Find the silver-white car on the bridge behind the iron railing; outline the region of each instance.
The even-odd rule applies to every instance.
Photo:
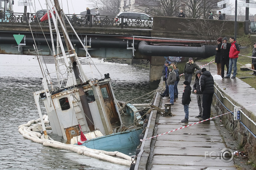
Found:
[[[141,12],[119,12],[115,17],[114,25],[121,25],[124,16],[124,26],[152,27],[153,17]]]

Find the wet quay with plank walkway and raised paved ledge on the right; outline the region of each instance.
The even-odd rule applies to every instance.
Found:
[[[197,64],[201,66],[206,63]],[[209,70],[209,66],[206,68]],[[216,65],[211,64],[210,72],[212,75],[217,73]],[[193,93],[191,94],[192,102],[189,104],[189,122],[180,122],[185,116],[183,105],[181,104],[184,89],[183,82],[184,77],[181,77],[178,84],[179,98],[176,99],[176,102],[171,107],[173,117],[163,117],[161,112],[152,111],[144,139],[199,122],[199,119],[195,118],[199,110],[196,95]],[[214,82],[215,94],[212,107],[216,109],[218,115],[230,112],[228,110],[233,111],[234,107],[231,103],[242,108],[255,104],[256,90],[240,79],[222,79]],[[164,87],[162,83],[161,81],[159,89]],[[193,86],[193,80],[191,86]],[[242,93],[247,89],[249,91],[248,94]],[[168,99],[167,97],[162,98],[157,94],[154,105],[164,109],[164,104],[169,103]],[[244,115],[241,115],[241,122],[243,123],[234,121],[231,113],[221,117],[227,130],[238,140],[238,143],[244,146],[243,151],[248,152],[248,157],[253,161],[256,157],[256,138],[253,135],[256,128],[254,120],[256,113],[254,110],[256,110],[255,105],[242,109],[243,113],[252,119],[249,120]],[[247,128],[242,124],[247,124]],[[230,162],[222,160],[222,149],[226,148],[225,141],[214,121],[206,121],[143,141],[140,148],[141,151],[137,156],[135,169],[236,169],[233,160]],[[210,154],[212,156],[209,156]]]

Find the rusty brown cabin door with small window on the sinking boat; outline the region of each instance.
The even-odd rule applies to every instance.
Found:
[[[109,84],[108,83],[103,84],[100,86],[100,88],[101,88],[101,93],[104,99],[107,115],[111,123],[112,129],[120,127],[121,122],[119,119],[119,115],[116,111],[115,102],[114,102]]]

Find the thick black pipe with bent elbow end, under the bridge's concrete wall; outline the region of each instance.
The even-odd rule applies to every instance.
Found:
[[[152,46],[146,41],[139,43],[139,52],[147,56],[197,57],[207,58],[215,55],[216,46],[181,47]]]

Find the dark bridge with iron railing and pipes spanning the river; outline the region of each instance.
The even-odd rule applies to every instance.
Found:
[[[51,55],[49,26],[47,21],[36,21],[35,14],[13,13],[0,15],[0,53],[35,55],[33,45],[36,44],[42,55]],[[4,16],[4,17],[3,17]],[[215,55],[215,46],[202,46],[201,32],[221,32],[221,36],[234,35],[234,21],[202,20],[178,17],[154,16],[149,19],[131,19],[121,16],[67,15],[65,22],[71,22],[80,39],[88,47],[92,57],[144,59],[150,61],[150,82],[159,83],[159,75],[164,56],[201,57]],[[86,18],[90,18],[87,21]],[[129,22],[128,22],[129,21]],[[154,22],[153,22],[154,21]],[[200,29],[200,25],[207,25]],[[199,31],[192,30],[194,26]],[[222,28],[220,31],[219,29]],[[70,26],[67,26],[71,41],[78,56],[86,56],[86,52],[75,40]],[[35,42],[33,40],[33,32]],[[44,34],[43,34],[44,32]],[[238,22],[237,36],[245,32],[245,22]],[[18,46],[13,35],[25,35]],[[211,37],[212,41],[217,38]],[[63,40],[64,41],[64,40]]]

